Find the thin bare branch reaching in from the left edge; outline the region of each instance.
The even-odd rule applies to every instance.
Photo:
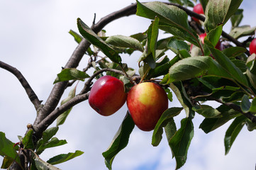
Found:
[[[36,96],[35,92],[31,88],[31,86],[28,84],[28,81],[23,77],[20,71],[16,69],[15,67],[10,66],[9,64],[6,64],[4,62],[0,61],[0,67],[2,69],[6,69],[7,71],[11,72],[15,77],[17,77],[18,81],[21,82],[21,85],[26,91],[26,94],[28,94],[28,98],[35,106],[35,110],[38,110],[41,101],[39,101],[38,96]]]

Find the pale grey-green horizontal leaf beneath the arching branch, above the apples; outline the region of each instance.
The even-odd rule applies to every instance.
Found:
[[[113,35],[106,39],[105,41],[109,45],[114,45],[116,47],[126,47],[126,48],[133,48],[135,50],[139,50],[143,52],[144,48],[143,45],[135,38],[131,38],[124,35]]]

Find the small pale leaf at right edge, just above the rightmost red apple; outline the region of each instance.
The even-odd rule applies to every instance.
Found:
[[[250,27],[250,26],[240,26],[233,28],[229,35],[232,36],[235,39],[238,39],[243,36],[247,35],[255,35],[256,27]]]

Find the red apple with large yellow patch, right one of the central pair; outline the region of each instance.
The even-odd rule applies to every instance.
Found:
[[[126,103],[135,125],[140,130],[150,131],[167,110],[168,97],[160,85],[143,82],[130,89]]]

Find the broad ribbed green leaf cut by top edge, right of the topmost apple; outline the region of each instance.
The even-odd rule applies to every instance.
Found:
[[[207,32],[228,21],[243,0],[209,0],[205,10],[204,26]]]

